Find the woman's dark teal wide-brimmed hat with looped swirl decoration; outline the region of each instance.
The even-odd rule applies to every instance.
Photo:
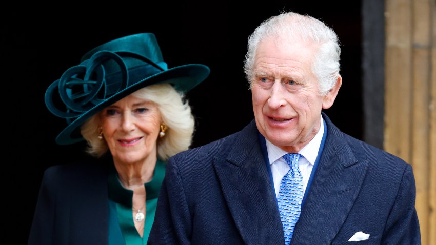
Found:
[[[138,89],[170,83],[186,93],[209,72],[201,64],[168,69],[153,33],[125,36],[98,46],[46,91],[48,110],[68,123],[56,142],[68,145],[83,140],[80,126],[88,118]]]

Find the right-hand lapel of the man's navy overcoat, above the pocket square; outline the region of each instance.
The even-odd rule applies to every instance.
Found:
[[[292,244],[330,244],[342,227],[368,169],[327,116],[327,139]]]

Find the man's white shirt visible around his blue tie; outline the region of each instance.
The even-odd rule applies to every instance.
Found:
[[[303,147],[298,153],[302,155],[298,161],[300,172],[303,176],[303,195],[309,182],[310,173],[312,172],[313,165],[315,164],[318,151],[320,149],[321,140],[324,134],[324,119],[321,117],[321,127],[315,137]],[[279,196],[280,182],[283,176],[290,170],[289,165],[282,157],[288,152],[273,145],[268,139],[265,138],[266,148],[268,152],[269,164],[271,167],[272,179],[274,181],[275,196]],[[295,152],[289,152],[295,153]]]

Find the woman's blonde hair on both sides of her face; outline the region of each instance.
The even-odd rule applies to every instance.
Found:
[[[167,161],[169,157],[189,149],[194,133],[194,117],[184,94],[168,83],[150,85],[132,93],[135,97],[152,101],[168,127],[165,136],[157,139],[157,156]],[[100,157],[108,151],[105,140],[98,139],[100,119],[98,113],[81,127],[82,136],[88,142],[87,152]]]

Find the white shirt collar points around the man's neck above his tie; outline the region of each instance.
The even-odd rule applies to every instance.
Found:
[[[315,134],[310,142],[303,147],[298,153],[301,154],[304,158],[309,161],[311,165],[315,163],[316,157],[318,156],[318,151],[320,149],[321,140],[323,139],[324,134],[324,119],[321,116],[321,126],[320,130]],[[268,151],[268,160],[269,164],[272,164],[274,161],[287,154],[288,152],[282,150],[278,146],[272,144],[268,139],[265,138],[266,148]]]

